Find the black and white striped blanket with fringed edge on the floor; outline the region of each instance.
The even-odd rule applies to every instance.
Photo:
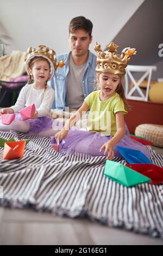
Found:
[[[30,139],[21,159],[2,160],[1,148],[1,205],[72,218],[87,216],[112,227],[163,237],[161,184],[127,188],[104,176],[105,157],[57,153],[46,137],[16,132],[0,132],[0,136]],[[163,157],[152,153],[154,164],[163,167]],[[120,158],[114,161],[125,163]]]

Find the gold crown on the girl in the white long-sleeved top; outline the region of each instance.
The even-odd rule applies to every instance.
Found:
[[[32,60],[35,57],[43,57],[48,60],[51,66],[51,71],[48,78],[48,80],[51,80],[55,74],[55,70],[57,68],[62,68],[62,66],[64,66],[65,64],[63,61],[60,61],[57,63],[57,60],[54,58],[54,55],[56,55],[56,53],[53,49],[45,45],[39,45],[38,47],[39,49],[36,50],[35,48],[32,48],[32,46],[30,46],[27,50],[28,57],[25,59],[25,67],[26,67],[27,74],[29,75],[30,60]]]

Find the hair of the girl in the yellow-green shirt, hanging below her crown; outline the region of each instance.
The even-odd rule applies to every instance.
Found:
[[[97,73],[97,76],[96,76],[96,81],[97,81],[97,83],[96,83],[95,89],[97,89],[97,90],[100,90],[100,89],[101,89],[100,84],[99,84],[99,75],[100,75],[100,74],[103,74],[103,73],[102,73],[102,72],[98,72],[98,73]],[[118,75],[118,76],[119,76],[119,75]],[[121,99],[122,99],[122,101],[123,101],[123,103],[124,103],[124,108],[125,108],[125,110],[126,110],[126,111],[129,111],[130,106],[128,105],[127,100],[126,100],[126,96],[125,96],[125,94],[124,94],[124,89],[123,89],[123,86],[122,86],[122,76],[119,76],[119,77],[120,77],[120,83],[118,83],[118,86],[117,86],[117,88],[116,88],[116,93],[118,93],[118,94],[120,95],[120,97],[121,97]]]

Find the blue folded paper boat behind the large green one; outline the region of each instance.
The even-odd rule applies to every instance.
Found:
[[[120,154],[127,160],[128,163],[153,163],[145,154],[136,149],[124,147],[116,147]]]

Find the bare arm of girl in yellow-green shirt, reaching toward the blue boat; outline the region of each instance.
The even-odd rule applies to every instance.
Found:
[[[99,150],[101,152],[103,149],[105,149],[104,155],[108,154],[106,159],[109,159],[109,160],[113,159],[114,148],[115,148],[116,144],[123,138],[123,136],[125,134],[123,112],[119,111],[115,115],[116,115],[117,131],[116,131],[114,137],[112,137],[112,139],[110,139],[110,141],[103,144],[101,149]]]

